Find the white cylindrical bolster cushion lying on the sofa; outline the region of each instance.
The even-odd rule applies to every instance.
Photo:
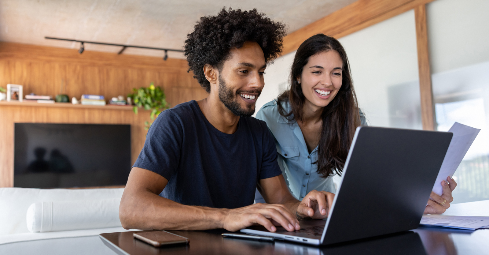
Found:
[[[52,232],[122,227],[119,198],[37,202],[27,209],[30,232]]]

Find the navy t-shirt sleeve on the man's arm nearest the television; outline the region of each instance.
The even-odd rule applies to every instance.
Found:
[[[150,170],[170,180],[177,171],[182,140],[180,120],[170,110],[163,111],[148,130],[133,167]]]

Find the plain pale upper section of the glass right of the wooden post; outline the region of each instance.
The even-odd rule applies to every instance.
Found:
[[[489,61],[489,0],[426,5],[432,73]]]

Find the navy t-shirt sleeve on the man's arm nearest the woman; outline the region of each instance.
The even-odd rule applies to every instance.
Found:
[[[263,122],[263,160],[260,171],[260,180],[275,177],[282,174],[277,163],[277,147],[275,139],[267,128],[267,124]]]

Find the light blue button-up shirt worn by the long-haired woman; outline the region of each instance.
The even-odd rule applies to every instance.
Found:
[[[290,112],[289,103],[283,103],[286,113]],[[309,153],[306,140],[296,121],[290,123],[287,118],[278,112],[277,101],[265,104],[256,114],[256,118],[267,122],[275,138],[278,152],[278,164],[282,175],[289,186],[292,195],[302,200],[311,190],[324,190],[336,193],[336,187],[331,176],[322,178],[317,173],[317,146]],[[365,116],[360,112],[362,125],[366,125]],[[261,194],[256,191],[256,203],[265,203]]]

